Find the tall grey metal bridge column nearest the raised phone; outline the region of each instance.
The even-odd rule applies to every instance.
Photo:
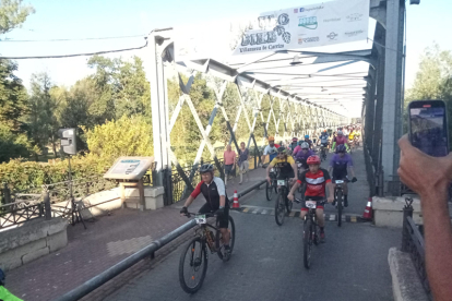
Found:
[[[386,1],[386,34],[384,49],[384,105],[382,119],[382,166],[384,180],[391,181],[399,167],[397,140],[402,131],[402,63],[404,36],[403,0]]]

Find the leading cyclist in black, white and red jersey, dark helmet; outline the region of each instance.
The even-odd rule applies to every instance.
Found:
[[[229,224],[229,202],[226,196],[225,183],[222,179],[214,176],[214,167],[211,164],[204,164],[200,168],[202,181],[198,183],[194,191],[187,198],[180,210],[181,215],[187,215],[188,206],[197,198],[200,193],[204,196],[206,203],[199,209],[199,214],[216,213],[218,216],[219,231],[223,236],[223,243],[225,245],[226,260],[229,258],[229,231],[227,230]]]

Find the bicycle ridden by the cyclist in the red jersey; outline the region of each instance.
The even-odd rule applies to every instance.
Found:
[[[301,203],[301,200],[295,198],[294,202]],[[312,200],[307,200],[305,202],[306,207],[308,207],[308,214],[305,216],[304,221],[304,231],[302,231],[302,261],[305,268],[309,269],[311,267],[311,251],[312,244],[319,245],[320,243],[320,227],[317,224],[316,208],[317,203],[320,205],[325,204],[325,201],[317,202]]]

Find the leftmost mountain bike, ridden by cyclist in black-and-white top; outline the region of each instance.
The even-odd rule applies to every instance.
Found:
[[[216,218],[215,227],[207,224],[209,217],[217,217],[215,214],[194,214],[194,213],[187,213],[187,217],[191,217],[194,215],[194,219],[199,225],[198,229],[195,230],[195,237],[187,244],[186,249],[183,250],[182,254],[180,255],[179,261],[179,281],[182,289],[188,293],[197,292],[205,278],[205,274],[207,272],[207,248],[211,251],[211,254],[217,253],[218,257],[223,261],[228,261],[224,255],[224,245],[223,245],[223,237],[222,232],[219,231],[218,226],[218,218]],[[215,230],[215,234],[209,228]],[[236,239],[236,227],[234,224],[234,219],[229,216],[229,227],[228,231],[230,234],[229,239],[229,252],[233,253],[234,243]],[[186,266],[186,258],[188,257],[189,263],[189,281],[186,280],[185,277],[185,266]],[[201,273],[200,276],[198,272]],[[191,286],[191,282],[194,285]]]

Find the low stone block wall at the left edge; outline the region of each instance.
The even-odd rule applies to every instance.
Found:
[[[67,227],[68,221],[62,218],[38,218],[0,232],[0,267],[13,269],[64,248]]]

